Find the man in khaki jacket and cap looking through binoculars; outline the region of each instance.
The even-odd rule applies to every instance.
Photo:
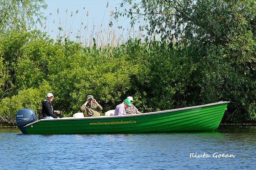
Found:
[[[84,113],[84,117],[100,116],[100,111],[102,107],[94,99],[92,95],[86,97],[86,102],[80,107],[81,111]]]

